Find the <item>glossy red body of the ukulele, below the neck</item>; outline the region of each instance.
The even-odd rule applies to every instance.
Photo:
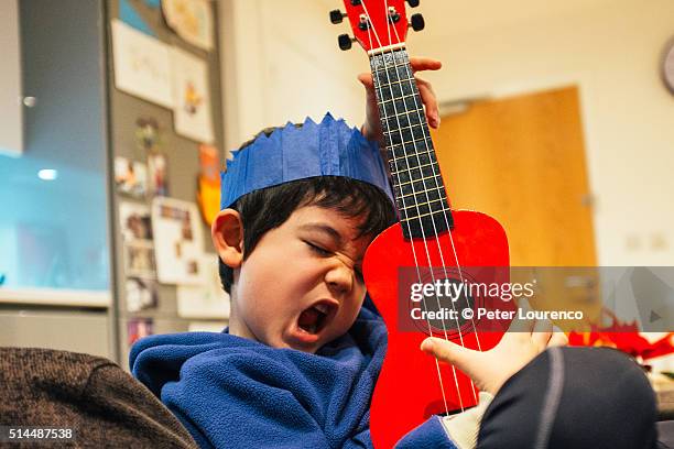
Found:
[[[508,240],[501,225],[475,211],[453,210],[452,216],[453,230],[441,233],[437,239],[413,239],[411,244],[403,237],[401,223],[396,223],[378,236],[366,253],[363,275],[367,289],[389,332],[387,355],[370,408],[370,431],[376,448],[392,448],[406,432],[434,414],[447,409],[460,412],[461,406],[476,405],[477,391],[464,373],[446,363],[436,363],[432,355],[420,350],[421,342],[428,336],[426,321],[422,321],[424,325],[418,329],[410,329],[403,324],[412,307],[423,309],[424,304],[407,300],[409,292],[400,287],[401,270],[406,271],[409,277],[410,273],[415,272],[415,266],[433,266],[434,270],[427,270],[426,274],[435,273],[437,280],[443,272],[446,273],[443,261],[445,267],[456,272],[458,259],[463,273],[471,282],[502,284],[510,280]],[[492,269],[481,272],[476,267]],[[431,282],[427,275],[424,282]],[[512,304],[504,304],[500,299],[476,299],[472,308],[479,304],[486,308],[514,309]],[[459,327],[459,337],[457,322],[447,337],[457,344],[487,350],[500,340],[508,324],[499,321],[494,326],[492,320],[469,320]],[[438,338],[446,337],[444,329],[437,326],[431,328],[431,333]]]

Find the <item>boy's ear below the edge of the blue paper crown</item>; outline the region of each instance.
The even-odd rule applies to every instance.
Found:
[[[233,209],[222,209],[213,220],[210,237],[218,255],[230,269],[238,269],[243,261],[243,225]]]

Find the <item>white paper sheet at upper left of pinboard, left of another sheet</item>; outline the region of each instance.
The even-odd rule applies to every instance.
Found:
[[[173,108],[168,45],[120,20],[112,20],[115,87]]]

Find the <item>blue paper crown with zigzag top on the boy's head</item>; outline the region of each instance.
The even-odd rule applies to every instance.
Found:
[[[393,204],[378,144],[327,113],[318,124],[311,118],[302,128],[289,122],[235,152],[221,174],[220,209],[253,190],[315,176],[345,176],[372,184]]]

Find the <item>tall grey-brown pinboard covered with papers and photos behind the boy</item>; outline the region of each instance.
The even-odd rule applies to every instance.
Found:
[[[194,14],[176,15],[184,7]],[[107,15],[116,321],[126,361],[139,337],[221,329],[228,316],[221,303],[180,304],[226,296],[214,287],[205,219],[213,210],[196,206],[208,183],[214,202],[224,161],[220,48],[214,1],[111,0]],[[205,15],[207,23],[195,21]]]

